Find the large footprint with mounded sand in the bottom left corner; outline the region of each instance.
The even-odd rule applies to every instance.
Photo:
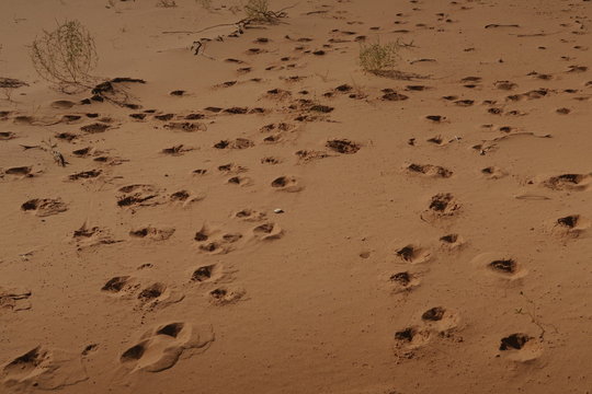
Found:
[[[2,366],[1,379],[9,390],[59,390],[88,379],[80,355],[37,346]]]

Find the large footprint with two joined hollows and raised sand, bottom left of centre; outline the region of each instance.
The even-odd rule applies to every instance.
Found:
[[[125,350],[119,362],[124,371],[160,372],[208,349],[214,341],[212,326],[185,322],[158,325],[144,333],[136,345]]]

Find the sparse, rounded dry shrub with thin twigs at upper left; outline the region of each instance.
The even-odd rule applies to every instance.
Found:
[[[98,55],[89,31],[78,21],[66,21],[35,38],[31,59],[42,78],[66,90],[84,86],[93,79],[90,72],[96,67]]]

